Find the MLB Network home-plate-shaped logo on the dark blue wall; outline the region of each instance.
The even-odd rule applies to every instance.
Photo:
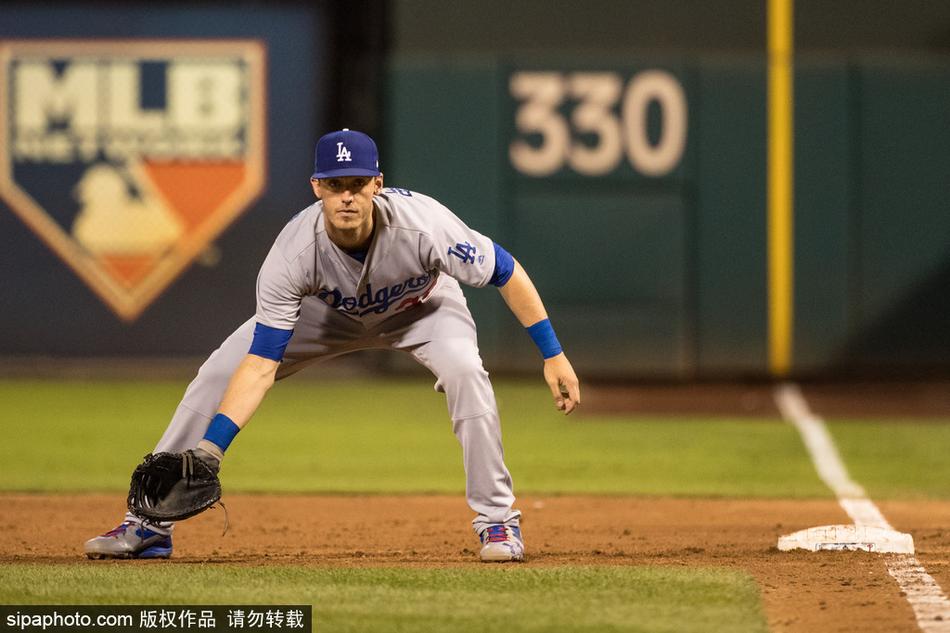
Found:
[[[0,41],[0,196],[133,321],[264,186],[254,40]]]

